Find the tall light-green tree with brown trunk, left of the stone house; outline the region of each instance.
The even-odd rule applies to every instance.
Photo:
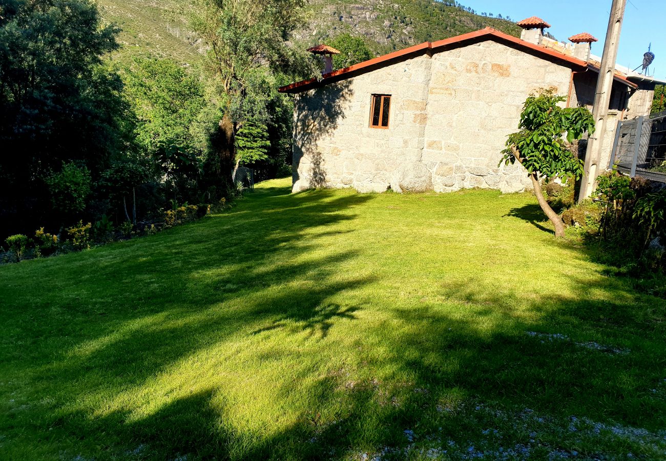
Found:
[[[211,133],[216,159],[208,159],[206,175],[222,173],[228,181],[238,130],[250,119],[265,123],[270,118],[265,109],[276,86],[274,75],[316,75],[316,63],[288,43],[304,21],[304,0],[196,0],[195,6],[183,13],[207,45],[208,97],[220,115],[217,132]]]

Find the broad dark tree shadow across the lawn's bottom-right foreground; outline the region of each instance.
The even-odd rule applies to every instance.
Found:
[[[277,430],[237,432],[228,422],[225,391],[216,388],[174,399],[139,420],[123,415],[122,431],[155,459],[347,459],[363,452],[404,459],[418,457],[415,446],[422,454],[438,447],[440,455],[448,449],[461,456],[475,446],[486,458],[494,458],[492,449],[515,446],[526,450],[517,459],[525,453],[546,459],[557,450],[581,458],[628,452],[654,458],[666,446],[643,438],[652,440],[648,432],[658,434],[666,422],[663,398],[649,392],[663,380],[663,328],[651,326],[663,320],[664,306],[637,300],[612,281],[571,282],[577,289],[571,296],[536,296],[529,306],[523,296],[490,292],[478,281],[443,286],[442,299],[470,310],[462,318],[432,300],[416,312],[392,310],[396,328],[366,338],[366,360],[358,368],[332,365],[310,382],[302,395],[308,405]],[[617,297],[587,295],[599,289]],[[516,304],[523,304],[524,317],[515,314]],[[290,354],[286,349],[270,356],[279,362]],[[316,352],[300,353],[310,360]],[[304,374],[311,372],[275,383],[274,400],[293,398]],[[599,423],[571,430],[571,416]],[[607,424],[608,434],[598,424]],[[501,437],[488,436],[486,428]]]

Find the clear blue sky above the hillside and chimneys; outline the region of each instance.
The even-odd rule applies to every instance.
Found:
[[[611,0],[460,0],[460,3],[476,10],[502,16],[512,21],[538,16],[551,24],[547,29],[559,41],[580,32],[589,32],[598,42],[592,44],[592,53],[601,56],[603,40],[611,9]],[[629,0],[620,37],[617,63],[631,69],[643,63],[643,53],[652,43],[655,61],[650,75],[666,77],[666,2],[664,0]],[[640,69],[639,69],[640,70]]]

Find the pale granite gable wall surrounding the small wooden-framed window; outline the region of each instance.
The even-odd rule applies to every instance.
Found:
[[[422,55],[296,96],[294,191],[522,191],[500,166],[525,98],[569,90],[571,70],[495,41]],[[391,95],[389,129],[370,128],[373,94]]]

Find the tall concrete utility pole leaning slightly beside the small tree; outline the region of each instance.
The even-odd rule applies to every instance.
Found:
[[[611,89],[613,89],[613,75],[615,74],[615,61],[617,59],[617,48],[620,43],[620,31],[622,19],[624,18],[627,0],[613,0],[611,17],[608,20],[606,41],[603,44],[603,55],[601,56],[601,69],[597,80],[597,90],[594,95],[594,107],[592,117],[595,120],[596,130],[587,141],[587,152],[585,153],[585,171],[578,201],[587,199],[594,190],[594,183],[599,175],[599,163],[601,163],[601,148],[603,147],[603,135],[606,131],[606,119],[608,117],[608,106],[611,102]],[[605,167],[605,165],[604,165]]]

